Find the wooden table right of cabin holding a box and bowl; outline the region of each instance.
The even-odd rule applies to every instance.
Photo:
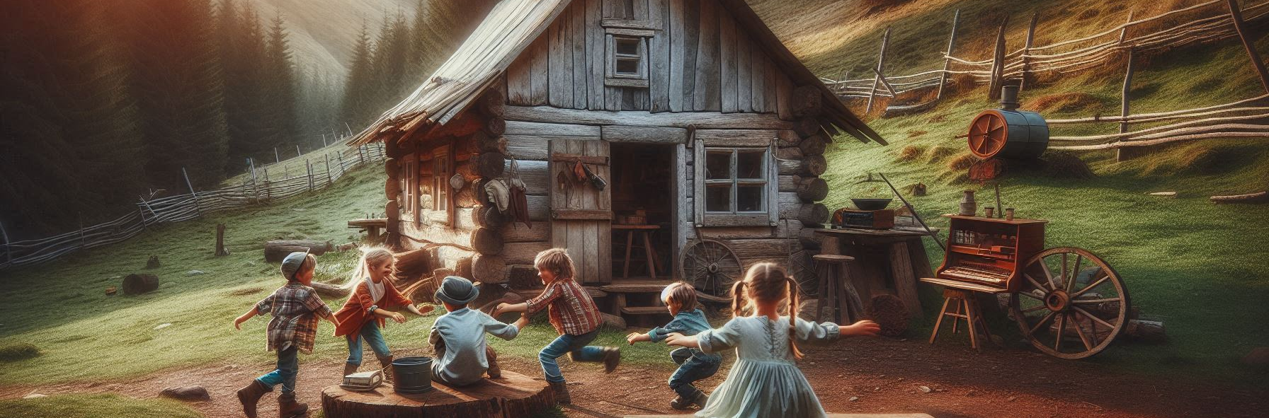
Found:
[[[933,277],[930,258],[921,238],[938,229],[816,229],[820,253],[855,257],[848,269],[864,309],[872,308],[872,296],[895,294],[906,305],[911,318],[921,318],[921,300],[916,295],[917,277]]]

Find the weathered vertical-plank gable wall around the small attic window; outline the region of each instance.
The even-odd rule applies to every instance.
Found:
[[[647,87],[605,86],[605,19],[654,28]],[[506,70],[508,104],[565,109],[779,113],[780,86],[791,79],[717,0],[576,0]]]

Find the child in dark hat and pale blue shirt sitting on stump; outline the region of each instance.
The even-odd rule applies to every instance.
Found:
[[[497,367],[497,355],[485,341],[485,333],[503,339],[511,339],[520,328],[529,324],[528,317],[520,317],[514,324],[505,324],[489,314],[467,308],[480,289],[471,280],[448,276],[437,289],[437,300],[448,312],[431,326],[431,343],[437,355],[431,364],[431,380],[463,386],[477,383],[489,372],[491,379],[501,377]]]

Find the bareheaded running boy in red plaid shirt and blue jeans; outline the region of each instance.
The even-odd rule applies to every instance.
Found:
[[[551,308],[551,326],[556,328],[560,337],[552,341],[542,352],[538,360],[542,361],[542,372],[556,393],[556,400],[569,404],[569,388],[565,386],[563,375],[556,358],[565,353],[572,361],[604,362],[604,372],[613,372],[622,360],[622,353],[617,347],[586,346],[599,336],[599,308],[590,299],[590,294],[574,280],[575,267],[572,258],[563,248],[551,248],[539,252],[533,260],[533,266],[538,267],[538,277],[547,285],[542,294],[518,304],[499,304],[494,309],[494,317],[505,312],[527,312],[529,314]]]

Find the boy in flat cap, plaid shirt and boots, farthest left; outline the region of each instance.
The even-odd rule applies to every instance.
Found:
[[[237,391],[242,412],[250,418],[255,418],[255,405],[260,396],[273,391],[273,386],[278,384],[282,384],[282,394],[278,396],[279,417],[299,417],[308,410],[307,404],[296,402],[296,375],[299,372],[297,352],[312,353],[319,317],[339,327],[330,308],[308,286],[316,266],[317,258],[312,255],[292,252],[282,260],[282,275],[287,277],[287,285],[233,319],[233,327],[242,329],[241,324],[251,317],[273,314],[269,320],[268,350],[278,352],[278,369],[256,377]]]

